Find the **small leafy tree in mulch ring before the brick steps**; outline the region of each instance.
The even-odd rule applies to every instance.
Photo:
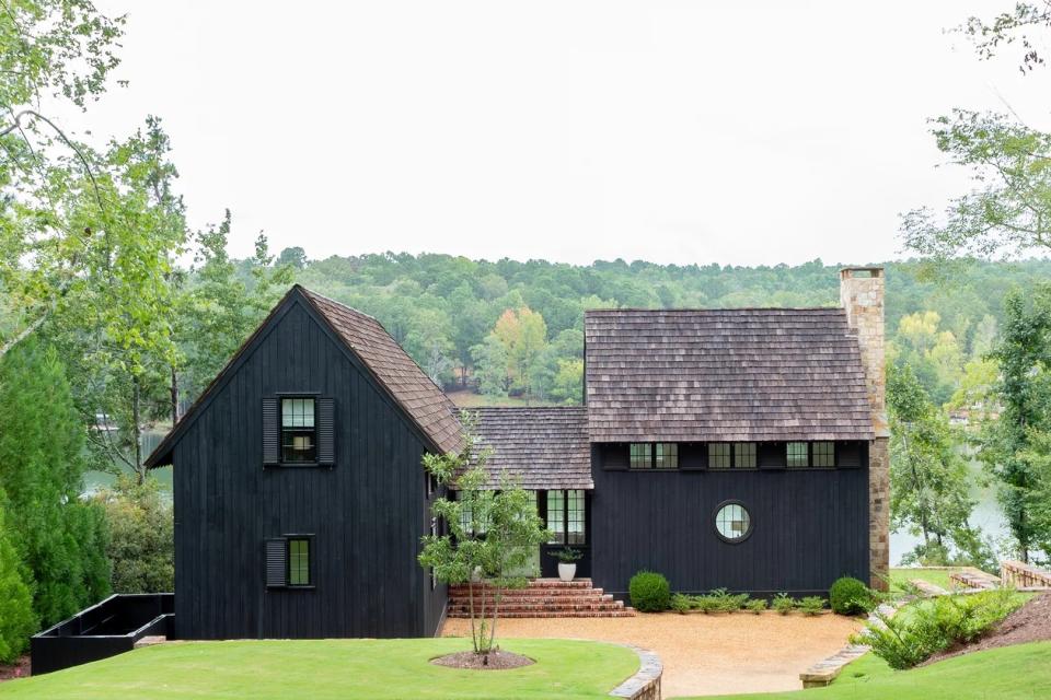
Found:
[[[494,651],[501,591],[524,587],[519,575],[533,559],[536,547],[551,538],[536,506],[521,486],[501,478],[493,489],[485,467],[487,451],[477,451],[470,432],[459,454],[424,455],[424,467],[439,483],[455,490],[457,498],[439,498],[431,513],[448,532],[423,538],[419,563],[443,583],[469,585],[471,644],[475,654],[487,657]],[[492,596],[481,595],[477,583],[495,587]],[[480,592],[481,593],[481,592]]]

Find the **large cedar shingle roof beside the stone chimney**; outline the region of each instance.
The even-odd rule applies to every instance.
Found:
[[[842,308],[585,314],[593,442],[870,440]]]

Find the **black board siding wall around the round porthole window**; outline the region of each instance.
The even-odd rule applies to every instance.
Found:
[[[824,595],[840,576],[869,578],[864,444],[852,445],[861,448],[858,464],[806,469],[787,469],[783,462],[706,469],[703,456],[686,447],[679,469],[631,470],[626,445],[591,447],[591,574],[619,597],[642,569],[689,593]],[[770,462],[775,454],[770,451]],[[741,542],[716,534],[715,513],[727,501],[740,502],[751,515],[751,534]]]

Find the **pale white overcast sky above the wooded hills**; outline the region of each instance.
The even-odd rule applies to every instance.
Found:
[[[943,32],[1010,4],[100,0],[130,84],[66,124],[161,116],[238,256],[862,264],[968,186],[928,117],[1051,126],[1047,77]]]

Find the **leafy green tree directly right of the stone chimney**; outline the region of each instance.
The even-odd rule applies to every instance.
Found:
[[[981,541],[969,534],[974,501],[969,497],[967,464],[951,439],[948,421],[909,365],[888,368],[887,402],[892,527],[922,536],[914,556],[927,561],[946,558],[954,540]]]

